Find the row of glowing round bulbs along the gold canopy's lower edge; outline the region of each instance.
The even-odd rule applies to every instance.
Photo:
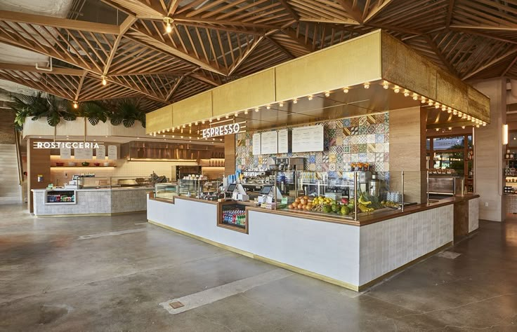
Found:
[[[369,83],[369,82],[365,82],[365,83],[362,84],[363,88],[365,88],[365,89],[369,89],[370,85],[371,85],[371,83]],[[461,111],[457,111],[456,109],[452,109],[452,107],[446,106],[445,104],[440,104],[439,102],[435,102],[432,99],[428,99],[428,98],[426,98],[424,96],[420,96],[416,92],[412,92],[410,90],[400,88],[400,86],[392,84],[392,83],[389,83],[388,81],[384,81],[382,83],[382,86],[383,86],[383,88],[385,90],[388,90],[388,89],[392,88],[392,85],[393,85],[393,92],[395,92],[395,93],[403,92],[405,97],[410,97],[411,96],[413,98],[413,100],[419,100],[420,99],[421,104],[427,104],[428,106],[434,106],[436,109],[440,109],[441,108],[442,111],[447,111],[447,113],[452,113],[452,115],[458,116],[458,118],[462,118],[464,120],[471,121],[473,123],[473,125],[476,125],[476,127],[480,127],[481,125],[484,127],[485,125],[487,125],[487,123],[485,121],[479,120],[478,118],[474,118],[473,116],[470,116],[470,115],[468,115],[466,113],[462,113]],[[343,93],[350,92],[350,89],[351,88],[349,88],[349,87],[343,88]],[[323,92],[323,95],[325,95],[325,97],[330,97],[331,93],[332,93],[331,91],[325,91],[325,92]],[[313,100],[314,99],[314,95],[308,95],[306,97],[307,97],[308,100]],[[293,98],[293,99],[291,99],[291,102],[293,104],[297,104],[300,99],[301,98]],[[283,107],[285,102],[287,102],[287,101],[281,101],[281,102],[278,102],[277,104],[278,104],[279,107]],[[271,109],[271,107],[273,105],[274,104],[266,105],[266,109]],[[260,106],[257,106],[257,107],[254,108],[255,112],[258,112],[260,110],[261,110]],[[246,109],[246,110],[243,111],[244,115],[248,115],[249,112],[250,112],[249,109]],[[236,111],[235,113],[225,114],[224,117],[226,119],[230,118],[230,116],[233,116],[234,118],[237,118],[237,116],[239,116],[239,114],[240,114],[240,111]],[[217,116],[216,120],[218,120],[218,121],[221,120],[221,116]],[[205,124],[205,123],[207,123],[207,121],[209,123],[212,123],[214,121],[214,118],[208,118],[208,119],[205,119],[205,120],[201,120],[200,122],[202,124]],[[193,124],[194,125],[199,125],[199,121],[196,121]],[[187,125],[178,125],[178,126],[176,126],[176,129],[180,130],[181,127],[185,128],[186,126]],[[188,126],[192,127],[192,123],[189,123]],[[462,126],[462,127],[464,127],[464,126]],[[170,130],[172,130],[174,132],[174,127],[166,129],[167,132],[169,132]],[[160,132],[165,132],[165,130],[158,131],[157,133],[160,134]],[[156,136],[156,132],[152,132],[152,133],[150,133],[150,135]]]

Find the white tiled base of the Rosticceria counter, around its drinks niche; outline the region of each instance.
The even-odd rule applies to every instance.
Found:
[[[33,190],[36,216],[118,214],[145,211],[151,188],[79,189],[77,204],[45,204],[45,190]]]

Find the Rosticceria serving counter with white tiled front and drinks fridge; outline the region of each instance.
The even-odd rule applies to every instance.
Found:
[[[152,187],[32,189],[36,216],[91,216],[143,212]]]

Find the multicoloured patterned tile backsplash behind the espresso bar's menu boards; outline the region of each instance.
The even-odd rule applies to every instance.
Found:
[[[325,126],[325,151],[253,155],[253,132],[237,134],[237,168],[266,168],[275,158],[303,157],[305,170],[339,172],[351,170],[351,162],[369,162],[373,172],[389,170],[389,113],[318,123]],[[266,132],[263,130],[260,132]],[[268,162],[269,160],[269,162]],[[332,176],[332,174],[329,174]]]

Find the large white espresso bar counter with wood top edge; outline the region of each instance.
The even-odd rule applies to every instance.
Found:
[[[244,211],[245,231],[223,224],[227,205]],[[148,221],[244,256],[360,291],[454,241],[455,206],[466,204],[478,227],[478,195],[362,214],[358,221],[312,212],[270,210],[148,194]],[[459,213],[459,212],[457,212]],[[461,212],[464,214],[464,211]],[[237,230],[237,231],[236,231]]]

